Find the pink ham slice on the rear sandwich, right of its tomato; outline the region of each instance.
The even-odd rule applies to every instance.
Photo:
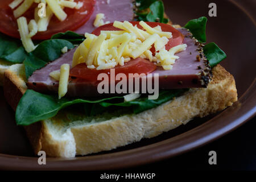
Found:
[[[75,32],[85,34],[86,32],[91,33],[95,30],[96,27],[93,26],[93,22],[98,13],[105,15],[104,22],[109,21],[113,23],[115,20],[131,21],[134,18],[133,0],[96,0],[92,16],[90,16],[90,19],[84,26],[80,27]]]

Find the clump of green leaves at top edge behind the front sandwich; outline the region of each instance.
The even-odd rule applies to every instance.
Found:
[[[141,5],[138,7],[139,10],[138,20],[143,20],[146,22],[160,22],[160,23],[168,23],[169,20],[164,18],[164,5],[162,1],[156,0],[140,0],[137,1]],[[147,9],[150,11],[148,12]],[[143,11],[144,10],[144,11]]]

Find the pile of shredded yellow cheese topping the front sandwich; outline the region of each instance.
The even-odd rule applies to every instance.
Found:
[[[117,22],[113,26],[121,31],[101,31],[99,36],[85,34],[85,41],[80,44],[73,55],[72,67],[86,63],[88,68],[109,69],[124,65],[131,58],[142,57],[163,69],[172,69],[172,64],[179,59],[175,53],[184,51],[186,44],[166,50],[166,44],[172,38],[171,32],[164,32],[160,26],[150,27],[141,21],[144,30],[130,22]],[[154,46],[156,52],[151,52]],[[155,55],[155,56],[153,56]]]

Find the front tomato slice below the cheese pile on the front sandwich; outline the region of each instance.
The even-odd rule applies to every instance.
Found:
[[[115,75],[118,73],[124,73],[127,77],[129,77],[129,73],[151,73],[156,69],[156,65],[151,63],[150,61],[142,58],[137,58],[127,62],[125,65],[118,65],[115,69]],[[71,77],[82,78],[87,81],[96,81],[97,77],[100,73],[110,74],[110,69],[89,69],[85,63],[76,65],[76,67],[72,68],[69,75]]]

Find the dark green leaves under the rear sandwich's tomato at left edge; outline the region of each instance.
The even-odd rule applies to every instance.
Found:
[[[67,32],[64,35],[73,35],[78,38],[79,34]],[[81,38],[81,35],[79,36]],[[39,43],[34,51],[27,53],[20,40],[0,34],[0,59],[10,63],[23,63],[25,65],[26,77],[28,78],[36,69],[43,68],[49,61],[59,58],[63,54],[61,49],[65,46],[68,49],[74,48],[73,44],[68,40],[51,39]]]

